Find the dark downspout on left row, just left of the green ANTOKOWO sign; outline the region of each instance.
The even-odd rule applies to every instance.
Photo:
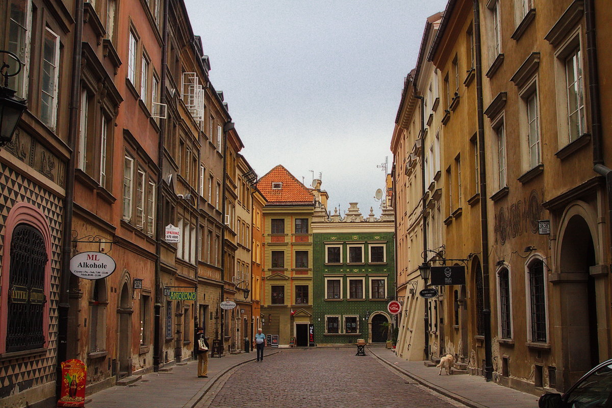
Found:
[[[166,69],[168,65],[168,0],[163,2],[162,25],[162,74],[160,76],[160,103],[166,103]],[[166,115],[168,108],[166,107]],[[166,133],[166,119],[160,119],[159,141],[157,144],[157,218],[155,219],[155,310],[153,337],[153,371],[160,369],[162,358],[162,236],[163,231],[163,144]]]

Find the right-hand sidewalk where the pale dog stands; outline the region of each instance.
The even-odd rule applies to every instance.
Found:
[[[538,397],[487,382],[483,377],[468,374],[447,376],[444,373],[439,376],[439,368],[426,367],[422,361],[408,362],[397,357],[393,351],[368,347],[367,352],[419,384],[472,408],[537,407]]]

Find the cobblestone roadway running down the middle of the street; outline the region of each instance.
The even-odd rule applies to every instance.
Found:
[[[234,368],[197,408],[465,407],[350,349],[280,352]]]

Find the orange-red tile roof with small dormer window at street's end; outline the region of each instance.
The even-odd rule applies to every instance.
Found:
[[[282,183],[281,188],[272,188],[272,183]],[[315,196],[310,188],[300,183],[285,167],[278,165],[259,179],[257,188],[268,202],[312,204]]]

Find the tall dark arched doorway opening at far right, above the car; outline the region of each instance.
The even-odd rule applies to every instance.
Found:
[[[564,383],[567,386],[599,363],[597,294],[595,278],[589,273],[597,264],[589,224],[581,215],[565,225],[559,252],[561,336],[567,352]],[[569,302],[566,300],[570,300]]]

